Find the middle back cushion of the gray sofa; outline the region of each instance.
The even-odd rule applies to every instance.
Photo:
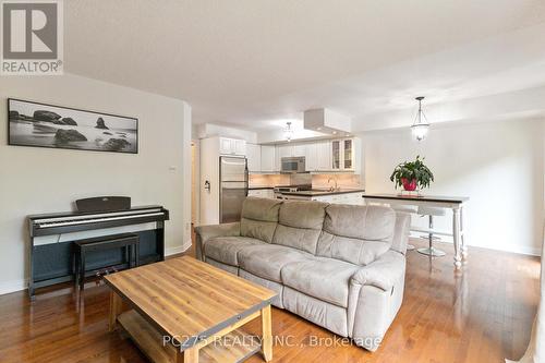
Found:
[[[283,202],[272,243],[315,254],[327,205],[307,201]]]

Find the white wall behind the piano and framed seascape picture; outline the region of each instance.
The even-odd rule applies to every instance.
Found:
[[[137,155],[8,146],[7,97],[138,118]],[[28,271],[25,217],[65,211],[72,202],[128,195],[170,210],[167,253],[191,243],[191,108],[75,75],[0,80],[0,294],[22,289]]]

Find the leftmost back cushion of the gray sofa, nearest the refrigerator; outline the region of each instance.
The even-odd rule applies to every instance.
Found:
[[[242,204],[240,234],[270,243],[278,225],[281,201],[249,196]]]

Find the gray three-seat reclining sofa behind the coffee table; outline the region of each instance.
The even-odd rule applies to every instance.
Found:
[[[383,206],[247,197],[240,222],[196,228],[196,254],[374,351],[401,306],[409,229]]]

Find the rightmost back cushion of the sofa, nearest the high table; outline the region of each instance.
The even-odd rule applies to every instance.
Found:
[[[395,227],[389,207],[331,204],[316,255],[365,266],[390,250]]]

